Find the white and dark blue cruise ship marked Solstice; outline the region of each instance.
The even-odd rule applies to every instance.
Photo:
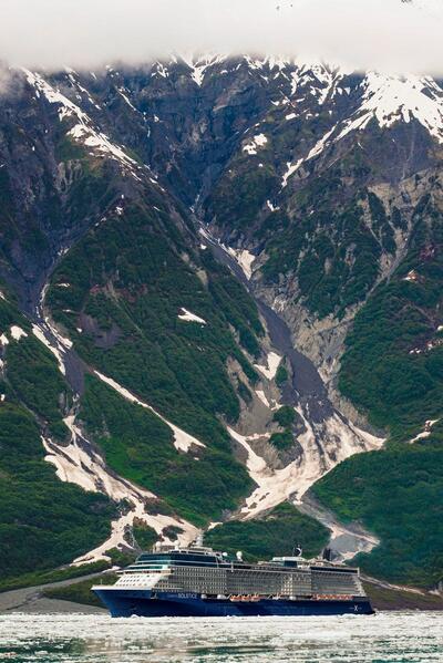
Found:
[[[155,546],[92,588],[112,617],[253,617],[373,614],[359,569],[291,557],[248,563],[202,541]]]

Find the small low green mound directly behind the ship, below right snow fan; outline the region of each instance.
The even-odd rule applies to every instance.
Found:
[[[292,555],[301,545],[306,557],[318,555],[329,540],[329,530],[300,514],[286,503],[256,520],[230,521],[205,535],[208,546],[235,555],[243,550],[245,559],[269,559]]]

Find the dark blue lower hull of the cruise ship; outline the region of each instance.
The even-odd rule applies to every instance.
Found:
[[[229,601],[202,599],[198,595],[157,593],[150,590],[94,589],[112,617],[257,617],[257,615],[328,615],[373,614],[368,599],[333,600],[272,600]]]

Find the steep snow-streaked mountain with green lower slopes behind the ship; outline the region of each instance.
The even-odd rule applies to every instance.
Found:
[[[199,528],[315,555],[329,529],[435,587],[441,81],[223,55],[7,73],[8,581]]]

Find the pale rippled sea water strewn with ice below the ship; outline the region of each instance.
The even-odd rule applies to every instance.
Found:
[[[111,619],[0,615],[0,661],[20,663],[443,662],[443,613]]]

